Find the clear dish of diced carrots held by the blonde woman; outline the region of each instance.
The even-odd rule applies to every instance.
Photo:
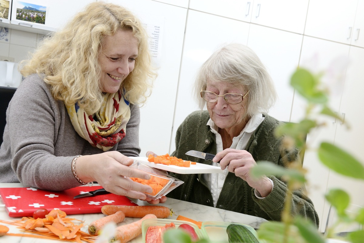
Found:
[[[172,191],[174,188],[180,186],[183,184],[182,180],[178,180],[177,178],[174,178],[173,176],[170,176],[162,171],[159,171],[155,168],[152,168],[150,166],[147,166],[146,164],[143,164],[141,162],[134,162],[131,167],[137,168],[142,171],[146,171],[150,174],[151,178],[149,180],[142,180],[139,178],[130,178],[136,182],[148,184],[149,186],[152,186],[153,192],[152,193],[145,193],[145,195],[150,199],[158,199],[162,196],[167,195],[170,191]]]

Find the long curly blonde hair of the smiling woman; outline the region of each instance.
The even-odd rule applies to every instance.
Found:
[[[132,104],[144,104],[157,77],[151,65],[148,36],[141,21],[119,5],[93,2],[54,35],[41,41],[31,59],[21,61],[23,76],[38,73],[51,85],[52,95],[66,105],[76,102],[94,113],[103,101],[99,55],[106,36],[131,31],[138,40],[134,70],[120,90]]]

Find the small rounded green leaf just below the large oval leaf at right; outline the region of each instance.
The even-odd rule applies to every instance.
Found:
[[[330,189],[325,195],[328,202],[336,208],[337,215],[343,217],[346,215],[345,209],[349,206],[350,196],[347,192],[341,189]]]

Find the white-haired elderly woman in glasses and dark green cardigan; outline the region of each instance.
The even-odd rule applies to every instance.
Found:
[[[285,160],[298,156],[297,150],[281,154],[282,138],[274,135],[281,122],[266,114],[276,100],[268,71],[250,48],[229,44],[202,65],[195,91],[201,111],[191,113],[179,126],[171,156],[206,164],[185,153],[216,154],[213,161],[219,163],[212,164],[221,166],[223,174],[170,173],[185,183],[167,196],[281,220],[285,182],[271,175],[257,180],[249,173],[259,160],[284,166]],[[207,111],[202,110],[204,105]],[[293,193],[292,214],[309,218],[318,227],[318,215],[304,188]]]

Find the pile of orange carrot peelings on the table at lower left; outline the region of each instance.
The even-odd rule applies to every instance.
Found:
[[[48,215],[46,215],[46,218],[44,219],[23,217],[21,220],[14,220],[13,222],[4,220],[0,220],[0,222],[19,226],[18,228],[20,228],[23,232],[37,234],[30,235],[7,233],[6,235],[27,236],[43,239],[62,239],[79,243],[82,243],[82,240],[86,242],[94,242],[94,239],[96,239],[97,236],[81,231],[80,229],[84,226],[84,224],[75,224],[72,222],[72,220],[77,219],[67,218],[66,213],[61,210],[52,210]]]

